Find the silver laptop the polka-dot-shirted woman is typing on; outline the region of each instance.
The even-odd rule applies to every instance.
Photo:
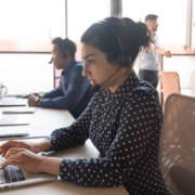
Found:
[[[3,160],[4,158],[0,155],[0,162]],[[56,180],[56,176],[48,173],[30,173],[16,166],[6,166],[0,170],[0,188],[48,182]]]

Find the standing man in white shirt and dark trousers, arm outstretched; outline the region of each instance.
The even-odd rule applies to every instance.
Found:
[[[145,24],[152,32],[153,43],[148,51],[141,50],[139,53],[135,66],[139,66],[139,78],[150,82],[154,88],[157,88],[159,80],[159,58],[158,54],[162,54],[166,57],[171,57],[171,52],[159,47],[159,38],[156,35],[158,28],[158,16],[148,14],[145,16]]]

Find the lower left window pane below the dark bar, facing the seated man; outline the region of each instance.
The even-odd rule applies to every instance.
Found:
[[[0,53],[0,82],[8,92],[44,92],[53,89],[50,53]]]

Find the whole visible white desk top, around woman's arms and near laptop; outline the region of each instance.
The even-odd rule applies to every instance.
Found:
[[[2,112],[2,107],[0,108],[0,113]],[[51,133],[52,130],[69,126],[75,119],[67,110],[62,109],[49,109],[49,108],[40,108],[38,107],[36,113],[31,117],[31,122],[29,128],[36,127],[48,127],[48,134]],[[23,126],[24,127],[24,126]],[[0,131],[4,131],[8,128],[18,128],[18,127],[1,127]],[[21,128],[21,127],[20,127]],[[32,142],[36,142],[41,139],[29,139]],[[0,141],[2,144],[4,141]],[[50,154],[51,155],[51,154]],[[87,141],[84,145],[77,146],[74,148],[69,148],[66,151],[61,151],[53,153],[52,156],[64,157],[64,158],[95,158],[100,157],[99,152],[93,146],[91,141]],[[112,187],[112,188],[98,188],[98,187],[81,187],[70,182],[65,182],[58,179],[57,181],[26,185],[21,187],[5,188],[0,190],[0,194],[3,195],[128,195],[127,191],[123,186]]]

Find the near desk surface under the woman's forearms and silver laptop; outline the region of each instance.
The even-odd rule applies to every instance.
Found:
[[[38,139],[34,139],[36,141]],[[0,144],[2,141],[0,142]],[[69,148],[66,151],[61,151],[53,153],[51,156],[55,157],[64,157],[69,159],[76,158],[95,158],[100,157],[99,152],[93,146],[90,140],[86,142],[84,145],[80,145],[74,148]],[[82,187],[78,186],[72,182],[62,181],[58,179],[57,181],[31,184],[26,186],[0,190],[0,194],[3,195],[128,195],[127,191],[122,185],[118,187]]]

